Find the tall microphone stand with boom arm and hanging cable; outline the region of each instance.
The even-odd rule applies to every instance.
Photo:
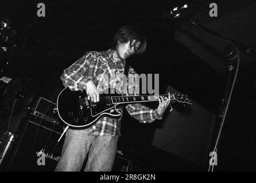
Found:
[[[232,58],[229,58],[231,60],[231,62],[230,62],[230,65],[228,66],[228,75],[227,75],[227,81],[226,81],[226,86],[225,86],[225,90],[224,90],[224,96],[222,98],[222,103],[221,103],[220,111],[219,111],[218,118],[217,118],[217,121],[220,120],[220,125],[219,125],[220,127],[218,129],[218,136],[216,137],[216,141],[214,142],[214,150],[211,152],[211,153],[213,153],[213,156],[209,162],[209,167],[208,167],[208,172],[213,172],[214,166],[217,165],[217,162],[215,162],[215,161],[217,159],[217,151],[218,151],[220,135],[222,133],[224,121],[226,120],[228,106],[230,105],[232,92],[234,90],[236,77],[238,75],[238,70],[239,70],[239,65],[240,65],[240,52],[246,53],[246,54],[251,54],[251,55],[255,56],[255,51],[253,51],[250,47],[242,45],[241,43],[238,43],[236,41],[230,41],[226,37],[223,37],[222,35],[219,35],[210,29],[207,29],[206,27],[200,25],[199,23],[197,23],[196,21],[193,21],[192,19],[190,22],[192,23],[193,26],[197,27],[198,29],[203,30],[205,33],[211,34],[216,38],[219,38],[225,42],[228,42],[235,49],[229,54],[229,56],[232,56]],[[234,53],[234,51],[235,51],[235,53]],[[237,59],[236,69],[233,64],[234,62],[232,61],[235,58]],[[234,75],[234,71],[235,71],[235,75]],[[234,75],[233,81],[232,81],[232,75]]]

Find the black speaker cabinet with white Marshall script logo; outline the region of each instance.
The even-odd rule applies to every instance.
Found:
[[[2,166],[3,171],[51,172],[61,155],[64,138],[57,142],[62,126],[48,121],[23,119],[14,145]]]

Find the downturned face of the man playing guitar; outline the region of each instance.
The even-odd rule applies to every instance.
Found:
[[[139,48],[139,46],[141,45],[141,42],[137,42],[136,45],[134,45],[135,43],[135,39],[133,40],[133,42],[130,41],[126,42],[126,43],[118,43],[117,44],[117,55],[120,59],[124,60],[128,57],[130,57],[131,55],[133,55],[135,53],[135,51]]]

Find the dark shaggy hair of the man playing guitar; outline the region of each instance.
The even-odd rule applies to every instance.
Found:
[[[130,41],[130,44],[135,39],[134,45],[137,44],[137,42],[141,42],[141,45],[139,45],[138,50],[135,51],[135,54],[142,54],[146,51],[146,38],[142,34],[142,31],[137,26],[123,26],[121,29],[118,30],[118,32],[114,35],[111,43],[111,49],[115,49],[117,46],[117,41],[120,41],[121,43],[126,43]]]

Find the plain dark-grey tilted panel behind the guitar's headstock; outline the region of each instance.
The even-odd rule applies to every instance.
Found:
[[[168,92],[180,93],[171,86]],[[174,110],[166,114],[161,127],[156,129],[152,145],[203,168],[209,161],[216,115],[195,101],[192,104],[186,108],[172,104]]]

